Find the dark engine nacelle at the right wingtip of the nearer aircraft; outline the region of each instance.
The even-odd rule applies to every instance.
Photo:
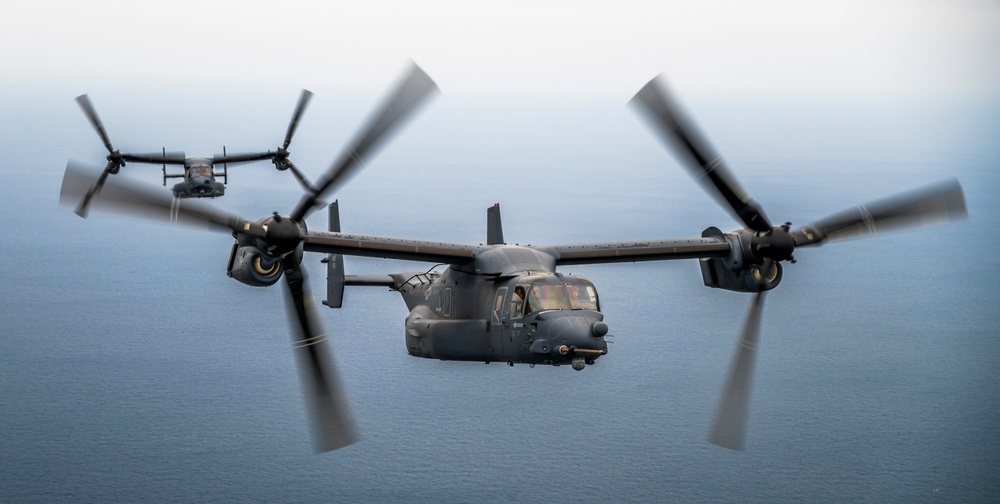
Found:
[[[704,237],[721,236],[730,243],[729,257],[706,257],[699,261],[705,285],[737,292],[763,292],[781,283],[781,264],[773,259],[754,260],[750,250],[752,232],[724,234],[718,228],[708,228]]]

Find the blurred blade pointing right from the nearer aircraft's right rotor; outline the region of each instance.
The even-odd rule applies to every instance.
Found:
[[[938,182],[838,212],[792,233],[795,246],[842,240],[907,227],[968,218],[965,194],[958,180]]]

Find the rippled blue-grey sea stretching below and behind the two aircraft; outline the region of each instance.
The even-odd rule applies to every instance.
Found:
[[[364,440],[314,455],[281,290],[227,279],[227,236],[58,208],[66,158],[99,155],[67,119],[76,110],[7,123],[0,501],[996,502],[991,110],[862,132],[830,124],[850,122],[842,110],[786,111],[794,119],[758,128],[709,112],[773,220],[801,224],[949,176],[971,217],[796,254],[767,299],[741,453],[703,438],[749,298],[703,287],[682,261],[566,270],[595,282],[614,334],[579,373],[410,357],[401,300],[349,290],[322,317]],[[520,243],[735,227],[641,126],[609,128],[621,136],[606,144],[589,129],[546,139],[512,128],[503,143],[442,139],[444,118],[426,121],[338,194],[345,229],[479,243],[494,201]],[[39,140],[60,134],[69,145]],[[290,177],[255,170],[216,203],[257,216],[297,201]],[[319,257],[308,265],[321,294]],[[348,260],[358,274],[414,267]]]

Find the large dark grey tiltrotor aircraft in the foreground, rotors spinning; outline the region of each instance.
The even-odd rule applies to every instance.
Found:
[[[709,440],[742,449],[765,292],[782,279],[782,263],[793,252],[828,240],[872,235],[966,216],[957,181],[947,181],[833,214],[793,229],[774,225],[711,148],[707,140],[653,79],[632,99],[653,129],[674,148],[684,166],[744,227],[723,232],[711,227],[701,236],[641,242],[519,246],[506,244],[499,206],[490,207],[485,244],[441,243],[342,233],[339,209],[330,205],[330,229],[310,230],[306,217],[322,207],[388,135],[436,91],[434,82],[414,66],[388,101],[334,161],[290,214],[275,212],[258,220],[199,202],[172,204],[165,195],[115,180],[94,198],[96,206],[132,210],[153,219],[207,227],[235,237],[227,271],[251,286],[269,286],[284,276],[292,339],[303,369],[318,451],[359,439],[355,417],[330,353],[306,282],[306,253],[325,254],[327,299],[342,306],[345,286],[384,286],[399,292],[407,307],[404,339],[414,356],[432,359],[569,365],[584,369],[606,355],[609,324],[598,291],[585,278],[564,275],[559,267],[635,261],[695,259],[709,287],[752,295],[736,353],[719,399]],[[70,162],[61,199],[74,204],[96,177]],[[344,256],[366,256],[444,264],[443,271],[386,276],[344,273]]]

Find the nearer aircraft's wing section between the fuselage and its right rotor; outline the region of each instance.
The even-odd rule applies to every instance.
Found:
[[[537,248],[555,257],[558,266],[725,257],[730,252],[729,243],[722,237],[582,243]]]

